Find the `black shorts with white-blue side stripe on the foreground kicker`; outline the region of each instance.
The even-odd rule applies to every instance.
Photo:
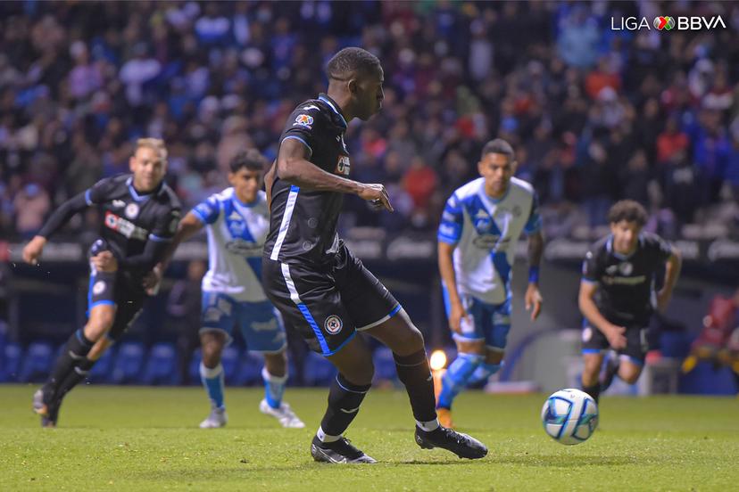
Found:
[[[356,332],[384,323],[401,310],[344,242],[324,266],[262,258],[262,284],[286,324],[323,356],[335,354]]]

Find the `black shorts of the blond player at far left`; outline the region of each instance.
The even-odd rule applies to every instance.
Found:
[[[136,320],[144,306],[146,293],[140,280],[127,272],[98,272],[90,265],[90,284],[87,288],[87,314],[102,304],[116,306],[115,319],[105,335],[109,340],[119,340]]]

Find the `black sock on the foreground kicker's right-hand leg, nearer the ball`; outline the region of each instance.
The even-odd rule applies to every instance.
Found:
[[[419,350],[410,356],[393,354],[393,357],[398,379],[405,385],[408,398],[411,400],[413,418],[419,422],[436,420],[434,378],[428,367],[426,351]]]

